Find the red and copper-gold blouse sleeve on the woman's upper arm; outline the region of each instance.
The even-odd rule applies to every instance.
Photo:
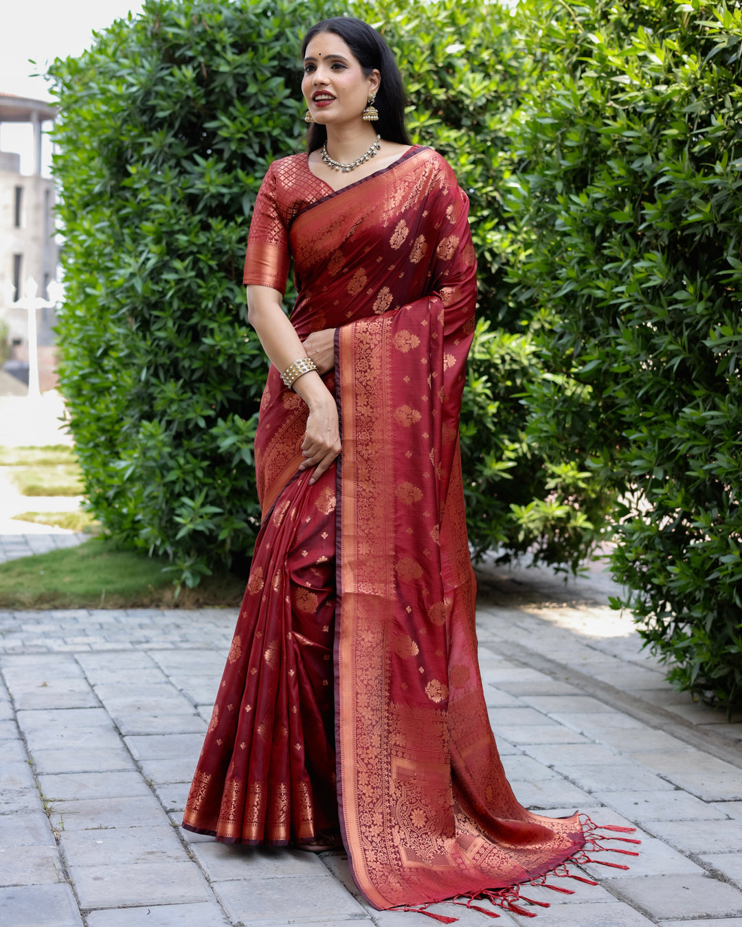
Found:
[[[249,224],[244,284],[271,286],[286,292],[288,277],[288,229],[278,208],[273,165],[262,180]]]

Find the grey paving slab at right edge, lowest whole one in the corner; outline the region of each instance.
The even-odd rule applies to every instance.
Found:
[[[742,892],[707,875],[659,875],[606,880],[611,891],[648,917],[732,917],[742,911]],[[604,883],[604,884],[605,884]]]

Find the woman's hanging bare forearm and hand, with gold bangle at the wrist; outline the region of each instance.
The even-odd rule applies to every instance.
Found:
[[[271,286],[248,286],[248,320],[260,338],[268,359],[283,373],[288,365],[307,352],[294,326],[281,309],[281,294]],[[294,390],[309,406],[309,418],[301,452],[305,460],[299,467],[308,470],[316,466],[310,483],[325,473],[340,452],[338,407],[316,371],[310,371],[295,381]]]

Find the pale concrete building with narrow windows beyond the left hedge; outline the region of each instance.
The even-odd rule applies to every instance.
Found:
[[[30,122],[33,127],[31,174],[20,172],[19,154],[0,151],[0,321],[8,328],[6,370],[21,376],[29,361],[28,312],[12,301],[24,295],[29,277],[38,284],[37,296],[47,298],[48,286],[58,276],[54,181],[42,176],[42,127],[55,115],[56,109],[41,100],[0,94],[0,122]],[[42,391],[56,385],[55,324],[53,308],[37,310]]]

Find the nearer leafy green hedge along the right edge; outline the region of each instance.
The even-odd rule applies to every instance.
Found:
[[[670,679],[739,704],[742,13],[551,11],[508,200],[531,243],[512,277],[553,320],[529,433],[622,494],[614,604]]]

